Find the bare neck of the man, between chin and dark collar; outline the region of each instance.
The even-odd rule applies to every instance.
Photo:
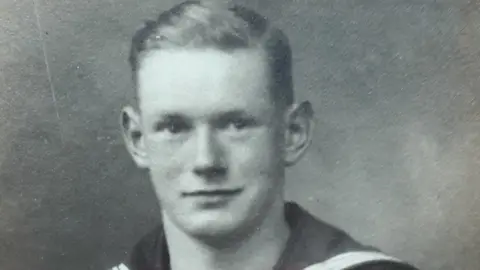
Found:
[[[198,270],[272,269],[285,248],[290,231],[283,200],[274,203],[270,210],[248,237],[221,248],[189,236],[163,213],[171,269],[190,270],[192,265]]]

